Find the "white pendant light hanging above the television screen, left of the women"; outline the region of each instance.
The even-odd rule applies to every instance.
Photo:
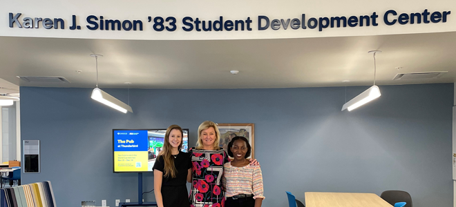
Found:
[[[106,106],[114,108],[115,110],[119,110],[120,112],[133,112],[129,105],[125,104],[119,99],[116,99],[115,97],[109,95],[107,92],[104,92],[103,90],[98,88],[98,57],[103,57],[103,55],[92,54],[91,57],[95,57],[95,63],[97,68],[97,88],[94,88],[92,91],[92,99],[100,103],[103,103]]]

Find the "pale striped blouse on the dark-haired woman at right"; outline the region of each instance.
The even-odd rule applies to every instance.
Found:
[[[239,194],[251,194],[256,198],[263,196],[263,175],[260,166],[247,165],[244,167],[231,166],[231,162],[223,165],[223,188],[227,190],[227,197]]]

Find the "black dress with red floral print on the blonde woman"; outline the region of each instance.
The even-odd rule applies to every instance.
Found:
[[[223,164],[229,162],[225,150],[190,149],[192,185],[191,207],[225,206],[225,191],[222,188]]]

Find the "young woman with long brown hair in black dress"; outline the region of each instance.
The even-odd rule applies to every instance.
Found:
[[[189,154],[181,152],[182,128],[171,125],[164,135],[163,149],[153,165],[153,186],[158,207],[189,207],[187,175]]]

